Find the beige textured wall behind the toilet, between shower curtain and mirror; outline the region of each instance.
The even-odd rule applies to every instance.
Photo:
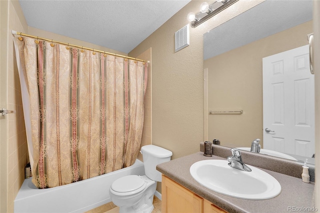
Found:
[[[261,1],[238,1],[190,27],[190,45],[174,52],[174,33],[202,2],[190,1],[129,52],[135,57],[152,48],[152,144],[171,150],[173,159],[198,151],[203,141],[203,33]]]

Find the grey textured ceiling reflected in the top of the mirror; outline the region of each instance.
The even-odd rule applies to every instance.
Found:
[[[312,0],[266,0],[203,35],[203,59],[312,19]],[[305,35],[306,39],[306,35]]]

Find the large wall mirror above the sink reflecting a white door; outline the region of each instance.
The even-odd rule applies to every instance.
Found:
[[[265,0],[204,33],[204,138],[314,163],[312,31],[311,0]]]

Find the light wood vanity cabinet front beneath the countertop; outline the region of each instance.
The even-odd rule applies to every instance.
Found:
[[[226,212],[210,201],[162,175],[162,212],[222,213]]]

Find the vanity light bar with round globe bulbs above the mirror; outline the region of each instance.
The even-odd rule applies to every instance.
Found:
[[[200,5],[200,12],[196,15],[193,12],[189,12],[187,19],[190,21],[191,27],[196,27],[236,1],[238,0],[215,0],[210,5],[207,2],[203,2]]]

